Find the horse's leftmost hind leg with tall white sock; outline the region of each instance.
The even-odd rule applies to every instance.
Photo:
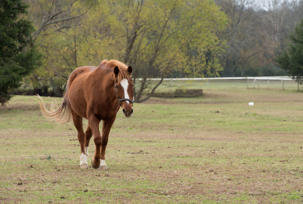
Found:
[[[81,148],[80,167],[87,168],[88,164],[87,164],[87,157],[85,155],[85,148],[84,148],[85,134],[82,126],[82,117],[76,114],[73,110],[71,110],[71,112],[72,112],[74,125],[78,131],[78,141],[80,143],[80,148]]]

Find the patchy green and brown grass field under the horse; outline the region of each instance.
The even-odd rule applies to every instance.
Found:
[[[0,109],[0,203],[303,203],[302,97],[208,90],[134,104],[131,118],[119,110],[99,171],[80,169],[72,121],[15,96]],[[89,164],[93,151],[92,139]]]

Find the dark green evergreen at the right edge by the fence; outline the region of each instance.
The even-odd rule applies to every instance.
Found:
[[[298,82],[303,78],[303,19],[295,26],[295,32],[289,35],[293,44],[289,44],[288,52],[276,56],[276,62]]]

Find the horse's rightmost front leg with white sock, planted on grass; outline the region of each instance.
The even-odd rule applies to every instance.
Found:
[[[106,164],[105,164],[105,150],[106,145],[108,142],[108,135],[111,131],[112,125],[114,124],[116,119],[116,116],[112,117],[108,121],[103,121],[103,127],[102,127],[102,145],[101,145],[101,163],[100,163],[100,170],[106,170]]]

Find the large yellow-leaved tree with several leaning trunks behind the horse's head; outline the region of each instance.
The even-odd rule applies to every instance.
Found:
[[[112,2],[118,34],[123,39],[121,58],[134,67],[135,102],[151,97],[171,70],[186,70],[199,63],[201,74],[218,76],[221,65],[216,56],[222,51],[217,31],[225,27],[223,12],[212,1],[153,0]],[[128,8],[128,9],[125,9]],[[196,64],[188,63],[188,49],[199,49]],[[209,57],[207,57],[208,55]],[[207,60],[206,60],[207,58]],[[212,69],[212,75],[208,70]],[[209,75],[208,75],[209,73]],[[149,78],[160,77],[153,84]],[[141,78],[141,80],[137,80]]]

